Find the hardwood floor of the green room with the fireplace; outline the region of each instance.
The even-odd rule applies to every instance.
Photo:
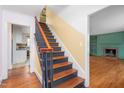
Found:
[[[124,61],[110,57],[90,57],[91,88],[124,88]]]

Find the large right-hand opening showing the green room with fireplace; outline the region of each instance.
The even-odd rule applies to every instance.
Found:
[[[111,5],[89,16],[92,88],[124,87],[123,9]]]

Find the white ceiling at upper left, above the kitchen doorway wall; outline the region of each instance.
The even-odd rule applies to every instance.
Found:
[[[38,16],[43,5],[1,5],[2,9],[23,13],[30,16]]]

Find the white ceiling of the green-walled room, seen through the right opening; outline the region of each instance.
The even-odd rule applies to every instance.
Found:
[[[124,31],[124,5],[112,5],[90,16],[91,35]]]

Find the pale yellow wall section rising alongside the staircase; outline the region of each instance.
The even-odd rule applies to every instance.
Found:
[[[75,28],[48,7],[46,9],[46,20],[62,40],[66,48],[71,52],[78,64],[84,69],[84,35],[76,31]]]

